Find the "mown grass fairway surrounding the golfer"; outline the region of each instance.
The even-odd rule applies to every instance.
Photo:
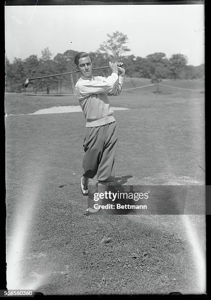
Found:
[[[150,83],[127,79],[124,89]],[[162,83],[201,92],[162,86],[157,94],[151,86],[109,98],[111,106],[129,108],[114,112],[116,181],[204,185],[204,81]],[[7,264],[16,266],[11,282],[20,278],[20,284],[45,295],[198,293],[184,216],[83,215],[82,112],[19,115],[78,105],[76,96],[5,98]],[[189,219],[205,255],[204,216]]]

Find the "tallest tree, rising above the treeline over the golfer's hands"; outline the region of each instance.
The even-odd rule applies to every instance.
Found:
[[[103,52],[105,58],[120,60],[125,52],[131,51],[125,44],[128,43],[126,34],[115,31],[112,34],[107,33],[107,41],[100,45],[99,50]]]

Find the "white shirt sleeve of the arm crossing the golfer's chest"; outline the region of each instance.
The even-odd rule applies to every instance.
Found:
[[[76,92],[79,97],[87,97],[92,94],[107,94],[112,90],[118,75],[112,73],[107,78],[101,77],[102,80],[81,80],[76,85]]]

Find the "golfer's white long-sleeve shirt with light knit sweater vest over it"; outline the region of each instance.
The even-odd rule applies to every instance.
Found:
[[[91,80],[79,78],[76,94],[86,119],[86,127],[95,127],[114,122],[113,110],[107,96],[121,93],[125,76],[112,73],[108,77],[95,76]]]

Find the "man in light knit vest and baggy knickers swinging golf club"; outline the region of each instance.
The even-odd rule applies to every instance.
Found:
[[[98,186],[115,180],[114,156],[118,132],[107,96],[121,93],[125,69],[120,67],[123,63],[109,62],[110,76],[93,76],[93,62],[86,52],[78,53],[74,62],[81,75],[76,83],[76,94],[86,119],[82,159],[84,173],[80,187],[83,196],[87,196],[89,178],[97,175]]]

